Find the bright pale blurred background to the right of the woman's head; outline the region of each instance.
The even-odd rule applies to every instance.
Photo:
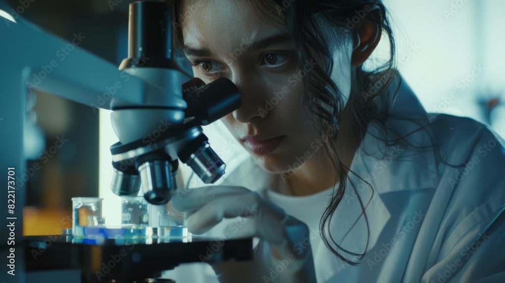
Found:
[[[427,112],[474,118],[505,134],[500,0],[385,0],[398,67]]]

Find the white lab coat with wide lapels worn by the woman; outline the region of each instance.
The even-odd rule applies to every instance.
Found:
[[[250,157],[221,184],[258,191],[311,227],[317,235],[311,237],[311,245],[319,283],[505,282],[505,142],[473,119],[427,114],[405,81],[393,99],[400,79],[377,100],[376,111],[397,117],[386,122],[388,138],[430,126],[404,143],[385,145],[374,137],[383,136],[382,128],[370,122],[350,166],[373,186],[372,194],[366,183],[350,175],[368,204],[370,235],[351,190],[327,230],[355,253],[363,253],[369,240],[360,265],[343,263],[322,244],[319,219],[331,189],[309,197],[272,193],[271,187],[282,185],[278,175],[263,171]],[[178,276],[188,272],[193,275],[189,280]],[[183,265],[167,275],[181,282],[217,281],[212,269],[201,264]]]

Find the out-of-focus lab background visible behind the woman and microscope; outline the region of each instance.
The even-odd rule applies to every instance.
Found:
[[[7,3],[19,16],[65,40],[80,33],[85,37],[80,48],[117,66],[127,56],[128,1],[34,0],[26,2],[28,7],[20,1]],[[471,117],[504,136],[505,2],[384,0],[384,4],[391,14],[398,68],[425,109]],[[387,46],[380,44],[373,60],[385,54]],[[2,72],[6,71],[4,66]],[[41,168],[27,180],[24,234],[70,227],[63,219],[71,219],[72,197],[104,198],[107,223],[119,224],[120,200],[110,191],[109,147],[118,140],[110,111],[96,111],[36,90],[28,109],[25,149],[31,160],[27,167],[38,162]],[[227,172],[246,157],[220,122],[205,127],[205,132],[227,163]],[[56,147],[62,140],[67,141]]]

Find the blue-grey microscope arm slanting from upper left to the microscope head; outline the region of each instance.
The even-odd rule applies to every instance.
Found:
[[[9,68],[1,79],[5,95],[37,89],[88,105],[94,111],[111,109],[112,103],[142,106],[156,101],[158,106],[173,107],[174,102],[158,99],[164,96],[160,87],[80,48],[88,35],[77,32],[67,42],[22,17],[16,23],[0,19],[6,21],[0,25],[4,42],[0,56]],[[177,105],[185,106],[185,102],[181,99]]]

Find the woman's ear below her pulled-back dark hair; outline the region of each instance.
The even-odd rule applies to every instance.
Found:
[[[379,24],[368,18],[363,19],[355,31],[352,48],[351,66],[356,67],[365,62],[379,44],[381,37]]]

